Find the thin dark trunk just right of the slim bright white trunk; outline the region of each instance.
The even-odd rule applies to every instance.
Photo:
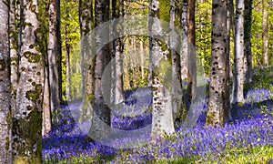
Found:
[[[251,24],[252,24],[252,2],[253,0],[245,0],[245,24],[244,24],[244,75],[245,82],[252,82],[252,52],[251,52]]]

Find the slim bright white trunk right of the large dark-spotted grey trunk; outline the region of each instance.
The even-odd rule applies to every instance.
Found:
[[[244,102],[244,0],[236,1],[232,103]]]

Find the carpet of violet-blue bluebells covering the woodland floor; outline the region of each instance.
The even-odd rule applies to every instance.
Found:
[[[269,82],[269,87],[272,86],[273,83]],[[143,112],[136,117],[114,115],[112,127],[134,131],[150,125],[150,95],[149,89],[142,89],[137,93],[126,91],[127,108],[138,108]],[[193,128],[176,127],[174,135],[158,137],[136,149],[117,149],[91,141],[87,136],[88,122],[76,121],[74,117],[75,110],[80,107],[80,102],[75,101],[62,107],[57,114],[58,119],[54,120],[53,129],[43,137],[43,159],[45,163],[76,163],[77,160],[73,160],[76,158],[83,159],[78,160],[78,163],[157,163],[164,159],[186,157],[202,163],[224,162],[229,155],[237,156],[238,149],[248,154],[251,153],[249,148],[267,147],[273,152],[273,89],[249,87],[245,97],[243,105],[231,109],[233,120],[227,121],[224,128],[205,126],[205,98],[195,107],[202,108],[202,113]],[[138,134],[136,138],[146,140],[147,135]],[[116,138],[116,144],[124,143],[123,139],[126,138]],[[84,159],[89,160],[83,162]],[[273,155],[265,163],[273,163]]]

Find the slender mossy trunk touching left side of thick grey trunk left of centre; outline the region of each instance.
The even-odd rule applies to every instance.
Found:
[[[93,1],[79,0],[79,22],[81,33],[81,97],[83,98],[83,111],[81,119],[89,118],[92,111],[88,108],[88,101],[91,102],[94,96],[94,64],[92,55],[94,46],[91,30],[93,29]]]

